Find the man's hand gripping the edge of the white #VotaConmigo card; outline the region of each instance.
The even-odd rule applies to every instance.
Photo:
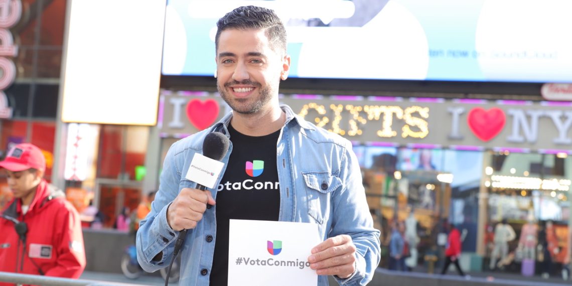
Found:
[[[310,268],[316,270],[317,275],[336,275],[345,279],[356,270],[356,247],[351,236],[339,235],[330,237],[323,243],[312,248],[312,255],[308,257]]]

